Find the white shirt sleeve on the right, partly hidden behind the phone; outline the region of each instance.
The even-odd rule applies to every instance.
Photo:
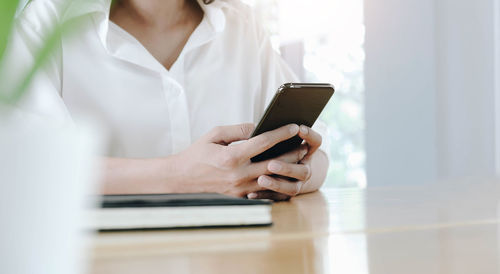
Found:
[[[271,102],[278,88],[284,83],[300,82],[299,78],[291,70],[288,64],[281,58],[281,56],[272,48],[269,36],[266,35],[262,28],[257,33],[261,37],[259,41],[260,44],[260,61],[261,61],[261,71],[262,71],[262,99],[259,103],[258,113],[259,117],[265,112],[267,105]],[[260,118],[257,118],[260,119]],[[259,121],[255,121],[258,123]],[[327,130],[328,127],[324,121],[318,119],[313,130],[318,132],[323,141],[321,143],[320,149],[327,152],[329,151],[330,144],[328,142]]]

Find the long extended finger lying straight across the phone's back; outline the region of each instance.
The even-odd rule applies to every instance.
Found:
[[[290,124],[280,127],[275,130],[264,132],[248,141],[233,146],[236,151],[241,153],[241,157],[248,159],[261,154],[262,152],[270,149],[279,142],[288,140],[299,132],[299,126]]]

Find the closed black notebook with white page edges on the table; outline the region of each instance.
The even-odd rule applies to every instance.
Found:
[[[103,195],[91,211],[100,231],[269,226],[272,203],[217,193]]]

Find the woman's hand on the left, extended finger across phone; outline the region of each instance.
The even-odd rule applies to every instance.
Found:
[[[297,135],[299,126],[290,124],[250,138],[253,130],[253,124],[216,127],[185,151],[173,155],[169,162],[174,169],[169,170],[175,170],[175,174],[170,174],[169,179],[176,181],[176,187],[170,189],[237,197],[264,190],[257,178],[270,174],[269,161],[252,163],[250,159]],[[238,141],[243,142],[232,144]]]

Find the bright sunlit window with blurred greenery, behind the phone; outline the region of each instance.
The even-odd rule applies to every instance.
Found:
[[[325,186],[366,187],[364,150],[364,23],[362,0],[246,0],[273,46],[304,82],[329,82],[335,95],[328,125],[330,169]]]

